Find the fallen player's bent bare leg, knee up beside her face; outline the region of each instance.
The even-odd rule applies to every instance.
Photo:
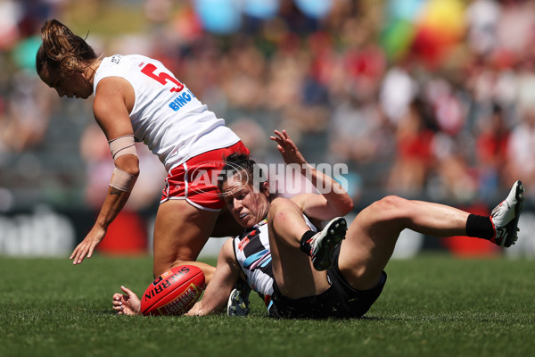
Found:
[[[291,200],[276,198],[268,213],[273,276],[281,293],[292,299],[323,293],[329,284],[325,271],[317,271],[300,251],[300,238],[310,228]]]

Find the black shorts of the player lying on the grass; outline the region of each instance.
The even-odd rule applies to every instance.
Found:
[[[273,282],[273,295],[269,316],[278,319],[350,319],[360,318],[383,292],[386,273],[383,271],[377,286],[370,290],[356,290],[351,287],[338,268],[340,247],[334,252],[333,268],[327,270],[331,283],[320,295],[291,299],[281,294]]]

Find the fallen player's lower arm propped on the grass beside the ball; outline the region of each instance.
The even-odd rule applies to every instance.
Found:
[[[193,305],[187,316],[203,316],[216,313],[226,307],[228,296],[240,278],[240,268],[235,260],[233,240],[228,239],[218,256],[213,278],[206,286],[202,299]]]

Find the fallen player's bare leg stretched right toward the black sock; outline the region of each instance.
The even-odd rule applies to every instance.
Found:
[[[379,281],[403,229],[435,237],[465,236],[468,215],[439,203],[387,196],[353,220],[342,241],[338,266],[351,286],[370,289]]]

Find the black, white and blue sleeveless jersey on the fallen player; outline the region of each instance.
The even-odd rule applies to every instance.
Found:
[[[317,232],[316,226],[303,214],[310,229]],[[269,250],[268,220],[262,220],[251,228],[245,229],[233,240],[235,258],[247,283],[263,299],[266,306],[273,294],[273,271],[271,270],[271,251]]]

